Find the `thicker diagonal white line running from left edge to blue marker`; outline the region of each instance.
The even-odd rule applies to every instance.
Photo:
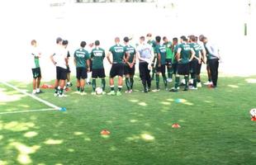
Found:
[[[15,89],[17,92],[21,92],[22,94],[26,95],[27,97],[32,97],[32,98],[34,98],[36,101],[40,101],[40,102],[44,103],[46,106],[50,106],[50,107],[54,108],[55,110],[61,110],[61,107],[55,106],[54,104],[50,103],[49,101],[45,101],[45,100],[43,100],[43,99],[41,99],[41,98],[39,98],[39,97],[36,97],[35,95],[32,95],[32,94],[30,94],[30,93],[28,93],[28,92],[25,92],[24,90],[21,90],[21,89],[19,89],[18,87],[13,86],[13,85],[10,84],[10,83],[2,82],[2,81],[0,81],[0,82],[1,82],[2,84],[6,85],[7,87],[12,87],[12,88]]]

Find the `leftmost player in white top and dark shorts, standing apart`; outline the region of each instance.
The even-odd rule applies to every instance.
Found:
[[[37,48],[36,40],[31,40],[31,68],[33,73],[33,92],[32,94],[39,94],[40,91],[40,80],[41,80],[41,71],[40,71],[40,51]]]

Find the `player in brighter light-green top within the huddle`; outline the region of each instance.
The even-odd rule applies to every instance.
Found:
[[[172,42],[168,41],[168,38],[164,36],[164,46],[166,48],[166,66],[167,66],[167,73],[168,73],[168,82],[173,81],[173,50],[172,50]]]

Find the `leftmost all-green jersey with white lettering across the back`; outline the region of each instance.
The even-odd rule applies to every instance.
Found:
[[[88,53],[87,50],[80,48],[79,50],[75,50],[73,54],[73,58],[76,61],[77,68],[87,68],[86,61],[90,59],[90,54]]]

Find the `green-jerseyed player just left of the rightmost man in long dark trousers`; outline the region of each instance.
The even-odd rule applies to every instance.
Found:
[[[193,79],[191,89],[197,89],[197,80],[199,79],[199,74],[201,70],[201,46],[196,43],[196,36],[189,36],[189,45],[195,51],[195,56],[190,62],[191,76]]]

